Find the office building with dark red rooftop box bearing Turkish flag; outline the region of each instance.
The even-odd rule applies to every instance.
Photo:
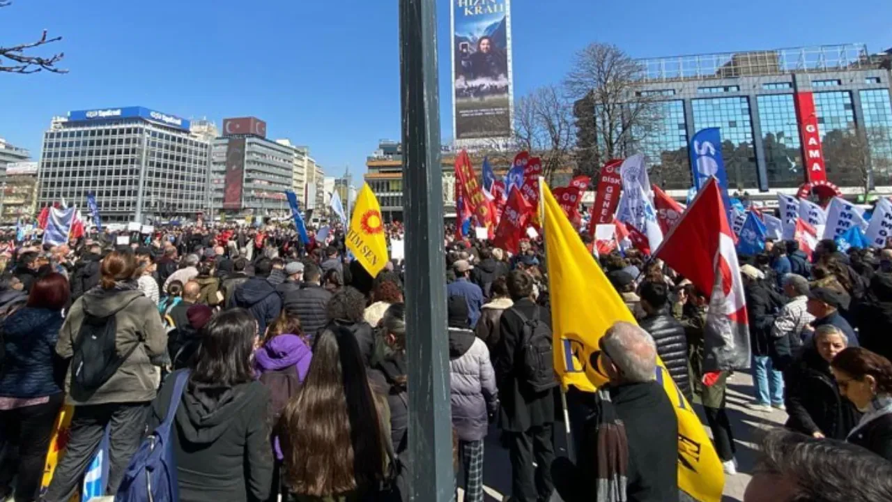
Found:
[[[289,213],[285,191],[293,188],[293,155],[293,146],[267,138],[265,121],[224,119],[211,154],[213,212],[231,217]]]

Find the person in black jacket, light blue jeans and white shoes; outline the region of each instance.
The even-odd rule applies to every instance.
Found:
[[[740,267],[740,276],[747,298],[749,343],[753,355],[756,402],[752,407],[762,411],[769,406],[783,409],[783,374],[773,366],[772,328],[776,314],[785,302],[766,284],[763,272],[753,265]]]

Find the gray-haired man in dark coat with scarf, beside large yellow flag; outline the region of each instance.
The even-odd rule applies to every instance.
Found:
[[[599,349],[590,363],[609,381],[585,423],[578,464],[565,457],[552,464],[555,488],[565,502],[678,500],[678,418],[655,379],[654,339],[616,322]]]

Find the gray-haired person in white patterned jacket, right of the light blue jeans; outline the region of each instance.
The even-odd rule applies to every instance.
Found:
[[[808,313],[808,280],[795,273],[783,276],[783,292],[790,298],[789,303],[780,309],[772,326],[772,365],[779,371],[789,367],[802,352],[802,344],[814,315]]]

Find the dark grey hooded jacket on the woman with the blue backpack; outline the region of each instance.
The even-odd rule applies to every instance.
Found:
[[[152,404],[150,430],[164,420],[177,372]],[[180,502],[266,500],[272,485],[269,390],[258,381],[232,388],[189,381],[175,415],[171,447]]]

